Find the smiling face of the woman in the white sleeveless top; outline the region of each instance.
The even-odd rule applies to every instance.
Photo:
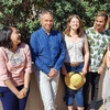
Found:
[[[69,26],[72,30],[77,31],[79,29],[79,20],[77,18],[73,18],[69,22]]]

